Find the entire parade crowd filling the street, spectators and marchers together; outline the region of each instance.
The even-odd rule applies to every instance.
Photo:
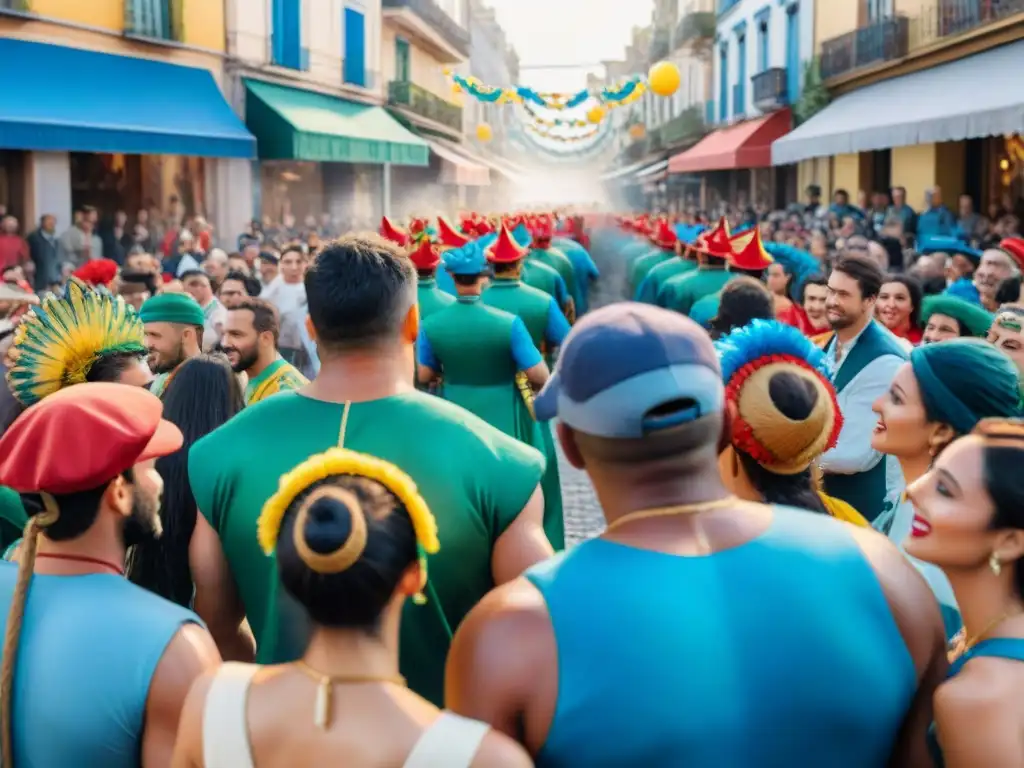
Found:
[[[3,768],[1024,765],[1020,219],[806,198],[4,219]]]

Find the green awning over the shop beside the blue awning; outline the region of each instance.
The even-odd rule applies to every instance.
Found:
[[[246,80],[246,125],[260,160],[425,166],[427,143],[381,106]]]

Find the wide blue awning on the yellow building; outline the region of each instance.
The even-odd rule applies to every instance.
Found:
[[[254,158],[209,70],[0,38],[0,146]]]

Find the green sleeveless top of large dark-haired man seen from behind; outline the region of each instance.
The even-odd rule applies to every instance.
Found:
[[[544,458],[472,414],[421,392],[344,403],[284,392],[247,408],[188,455],[197,505],[220,537],[258,643],[260,664],[290,662],[308,639],[304,611],[280,589],[256,520],[281,475],[334,445],[385,459],[416,482],[437,518],[427,603],[407,601],[401,674],[434,703],[443,699],[452,632],[495,587],[498,538],[536,490]]]

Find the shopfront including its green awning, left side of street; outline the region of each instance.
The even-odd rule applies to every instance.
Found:
[[[244,79],[259,204],[273,223],[331,213],[343,226],[390,214],[397,172],[429,167],[427,143],[380,106]],[[404,187],[404,184],[402,184]]]

